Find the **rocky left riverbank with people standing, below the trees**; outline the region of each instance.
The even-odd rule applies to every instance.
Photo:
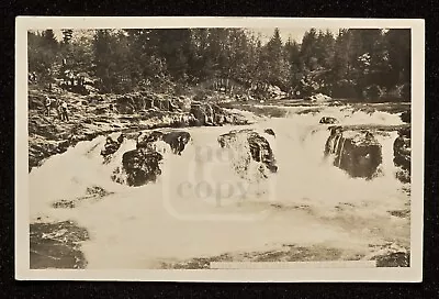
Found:
[[[45,97],[63,100],[68,104],[68,121],[61,121],[56,107],[45,115]],[[41,166],[53,155],[61,154],[81,141],[91,141],[99,135],[114,132],[153,130],[159,128],[189,128],[205,125],[199,118],[206,117],[203,111],[193,115],[194,101],[190,98],[176,98],[169,95],[94,95],[81,96],[68,91],[29,91],[29,171]],[[136,98],[137,97],[137,98]],[[142,104],[139,104],[139,99]],[[145,99],[145,101],[143,101]],[[151,107],[146,104],[151,101]],[[170,109],[169,103],[177,103]],[[162,104],[161,104],[162,103]],[[207,104],[211,110],[212,107]],[[204,113],[204,114],[203,114]],[[222,121],[212,120],[209,125],[247,124],[250,120],[237,111],[222,108],[215,111]],[[203,120],[204,121],[204,120]]]

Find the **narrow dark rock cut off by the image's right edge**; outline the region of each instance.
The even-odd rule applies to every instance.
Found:
[[[410,181],[412,175],[412,139],[410,128],[398,131],[398,136],[393,143],[393,162],[399,169],[396,177],[403,182]]]

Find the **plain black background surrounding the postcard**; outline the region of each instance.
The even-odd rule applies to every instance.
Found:
[[[7,298],[439,298],[437,0],[356,1],[11,1],[0,0],[0,295]],[[229,15],[416,18],[426,20],[424,283],[189,284],[14,280],[14,22],[16,15]],[[416,99],[414,99],[416,100]],[[3,296],[2,296],[3,297]],[[4,298],[4,297],[3,297]]]

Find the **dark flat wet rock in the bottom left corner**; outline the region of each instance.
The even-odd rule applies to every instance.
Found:
[[[89,234],[75,222],[32,223],[30,233],[31,269],[76,269],[87,266],[80,246],[89,240]]]

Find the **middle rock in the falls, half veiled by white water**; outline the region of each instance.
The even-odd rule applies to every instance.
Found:
[[[273,132],[274,133],[274,132]],[[235,169],[244,175],[248,170],[250,159],[260,163],[260,173],[267,177],[266,169],[270,173],[277,173],[278,166],[270,147],[270,143],[256,131],[252,130],[233,130],[229,133],[218,137],[221,147],[234,150],[238,155],[238,163]]]

